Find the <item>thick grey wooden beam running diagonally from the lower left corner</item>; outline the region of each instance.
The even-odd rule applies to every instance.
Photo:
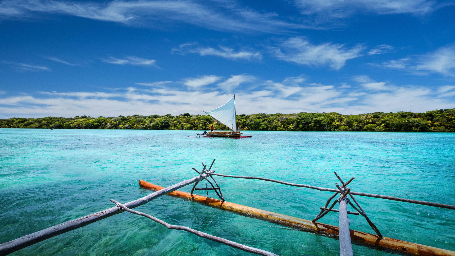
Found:
[[[125,206],[128,208],[134,208],[139,205],[146,204],[159,196],[165,195],[165,194],[175,191],[179,188],[182,188],[188,184],[192,184],[194,182],[200,181],[201,179],[207,178],[209,175],[211,175],[211,174],[202,174],[202,175],[196,176],[192,179],[184,180],[180,183],[174,184],[165,189],[161,189],[150,195],[146,195],[142,198],[128,202],[125,204]],[[119,210],[119,208],[115,206],[115,207],[112,207],[112,208],[109,208],[106,210],[102,210],[102,211],[93,213],[91,215],[86,215],[86,216],[78,218],[76,220],[69,220],[69,221],[63,222],[61,224],[37,231],[30,235],[19,237],[15,240],[12,240],[9,242],[5,242],[0,245],[0,256],[10,254],[11,252],[15,252],[15,251],[25,248],[27,246],[31,246],[31,245],[36,244],[45,239],[66,233],[71,230],[75,230],[77,228],[83,227],[85,225],[89,225],[93,222],[105,219],[107,217],[116,215],[121,212],[122,211]]]

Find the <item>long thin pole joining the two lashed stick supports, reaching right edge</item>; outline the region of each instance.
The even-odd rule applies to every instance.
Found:
[[[329,191],[329,192],[339,193],[338,189],[322,188],[322,187],[306,185],[306,184],[296,184],[296,183],[285,182],[285,181],[281,181],[281,180],[277,180],[277,179],[267,179],[267,178],[249,177],[249,176],[235,176],[235,175],[215,174],[215,173],[212,173],[212,175],[227,177],[227,178],[238,178],[238,179],[259,179],[259,180],[271,181],[271,182],[294,186],[294,187],[302,187],[302,188],[308,188],[308,189],[317,189],[319,191]],[[382,198],[382,199],[388,199],[388,200],[394,200],[394,201],[400,201],[400,202],[406,202],[406,203],[413,203],[413,204],[418,204],[418,205],[428,205],[428,206],[435,206],[435,207],[455,210],[455,205],[445,205],[445,204],[440,204],[440,203],[432,203],[432,202],[426,202],[426,201],[420,201],[420,200],[414,200],[414,199],[399,198],[399,197],[388,196],[388,195],[376,195],[376,194],[353,192],[353,191],[349,192],[349,194],[374,197],[374,198]]]

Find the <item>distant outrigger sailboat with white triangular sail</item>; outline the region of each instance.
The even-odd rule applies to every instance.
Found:
[[[251,138],[252,135],[242,136],[241,133],[237,129],[237,123],[235,119],[235,93],[234,96],[227,101],[226,103],[222,104],[218,108],[212,109],[210,111],[203,111],[216,121],[224,124],[227,128],[231,129],[230,131],[211,131],[208,133],[197,133],[196,137],[206,137],[206,138]],[[190,137],[190,136],[188,136]]]

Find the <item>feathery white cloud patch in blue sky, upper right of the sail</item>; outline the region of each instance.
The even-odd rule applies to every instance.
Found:
[[[291,37],[281,43],[281,47],[271,47],[274,55],[283,61],[308,66],[326,66],[339,70],[345,62],[361,56],[363,46],[345,49],[344,45],[324,43],[313,45],[303,37]]]

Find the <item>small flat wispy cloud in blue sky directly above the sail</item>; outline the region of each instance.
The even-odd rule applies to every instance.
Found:
[[[186,43],[180,45],[178,48],[172,49],[172,52],[180,54],[187,52],[197,53],[200,56],[219,56],[230,60],[260,61],[262,59],[262,54],[259,51],[234,51],[234,49],[225,46],[219,46],[219,48],[214,49],[209,46],[199,47],[197,43]]]

